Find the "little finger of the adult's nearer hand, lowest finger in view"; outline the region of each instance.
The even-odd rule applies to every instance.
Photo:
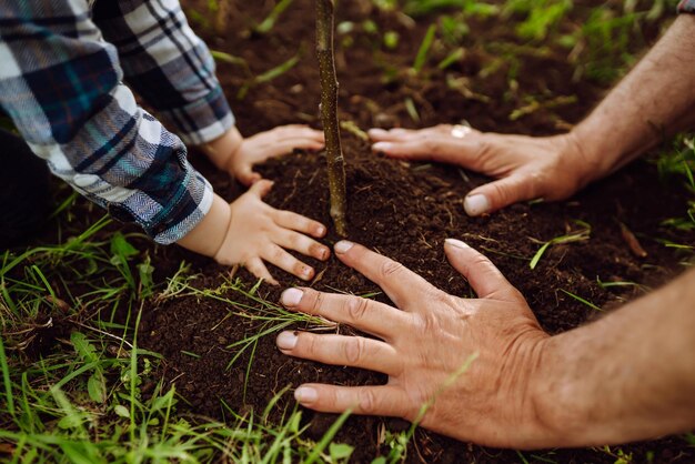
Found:
[[[407,394],[395,386],[334,386],[305,384],[294,391],[294,399],[305,407],[325,413],[405,417],[413,407]],[[417,407],[417,405],[415,405]]]

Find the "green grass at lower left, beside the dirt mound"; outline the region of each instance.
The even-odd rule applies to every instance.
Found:
[[[234,282],[198,294],[190,285],[197,275],[185,264],[167,283],[154,284],[147,252],[133,244],[140,236],[109,233],[112,225],[102,219],[64,243],[3,254],[0,457],[22,463],[344,462],[352,448],[333,437],[346,415],[318,444],[302,436],[296,406],[280,423],[268,420],[286,389],[260,421],[231,408],[225,423],[179,410],[175,389],[164,389],[159,377],[161,356],[138,345],[148,300],[195,294],[226,301],[220,295],[232,289],[260,305],[231,302],[238,313],[265,324],[264,334],[304,319]],[[114,322],[117,311],[132,312],[134,321]],[[42,331],[56,325],[66,327],[58,346],[31,354]]]

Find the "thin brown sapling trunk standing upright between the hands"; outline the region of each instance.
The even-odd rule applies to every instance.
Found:
[[[333,53],[334,0],[316,0],[316,56],[321,75],[321,119],[325,133],[325,150],[331,192],[331,218],[335,230],[348,235],[345,222],[345,165],[338,121],[338,89]]]

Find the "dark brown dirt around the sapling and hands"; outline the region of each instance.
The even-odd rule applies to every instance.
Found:
[[[319,90],[315,61],[312,53],[313,18],[312,2],[298,0],[288,10],[278,27],[265,37],[245,37],[253,20],[264,18],[271,2],[245,2],[243,11],[232,2],[233,17],[223,36],[201,30],[212,48],[246,59],[254,73],[283,62],[304,50],[300,64],[270,84],[251,89],[244,101],[234,95],[243,79],[239,69],[220,65],[219,73],[233,102],[243,133],[251,134],[276,124],[305,121],[318,124]],[[367,2],[364,2],[365,4]],[[197,2],[189,4],[198,6]],[[471,90],[485,94],[488,101],[464,95],[449,89],[446,73],[427,68],[425,78],[403,73],[384,85],[382,69],[376,64],[387,60],[394,68],[405,69],[422,40],[427,21],[419,21],[405,29],[393,14],[379,13],[369,4],[342,2],[341,20],[355,22],[374,19],[382,30],[393,28],[401,32],[397,50],[384,53],[374,44],[373,38],[359,34],[354,44],[344,48],[339,57],[339,77],[342,83],[341,109],[344,120],[353,120],[361,128],[394,125],[431,125],[450,123],[466,118],[475,128],[498,132],[546,134],[578,121],[601,98],[602,89],[595,84],[572,82],[573,68],[567,63],[566,52],[552,51],[537,58],[534,53],[521,57],[517,70],[518,91],[508,87],[508,67],[487,79],[480,79],[479,71],[495,59],[495,41],[513,40],[506,24],[493,21],[471,21],[470,52],[447,72],[470,79]],[[201,10],[203,11],[203,10]],[[204,12],[204,11],[203,11]],[[580,11],[575,11],[581,18]],[[574,17],[573,17],[574,18]],[[580,21],[580,19],[575,19]],[[572,27],[572,21],[568,26]],[[654,32],[646,33],[648,40]],[[300,40],[301,39],[301,40]],[[508,114],[523,105],[524,95],[576,95],[577,103],[555,110],[542,109],[526,118],[511,121]],[[410,97],[420,109],[421,122],[415,124],[404,105]],[[570,297],[562,290],[580,295],[604,309],[615,307],[624,300],[639,295],[636,289],[616,288],[605,290],[597,280],[633,281],[656,286],[682,271],[673,250],[657,242],[669,239],[694,244],[695,236],[678,235],[663,228],[665,219],[683,215],[686,193],[679,181],[662,182],[656,169],[648,162],[638,162],[616,175],[590,186],[567,202],[555,204],[517,204],[481,219],[467,218],[462,200],[474,185],[485,180],[472,173],[463,173],[446,165],[409,164],[392,161],[370,152],[369,145],[344,133],[344,151],[348,170],[350,201],[350,239],[391,256],[423,275],[433,284],[456,295],[470,295],[466,282],[447,264],[443,253],[446,238],[460,238],[484,251],[528,300],[541,324],[550,333],[575,327],[598,316],[591,307]],[[232,200],[240,188],[225,175],[215,173],[204,160],[194,162],[209,175],[218,192]],[[266,201],[282,209],[296,211],[330,224],[328,216],[328,189],[325,186],[324,160],[320,154],[298,153],[275,160],[261,168],[264,176],[274,180],[275,186]],[[574,221],[592,225],[591,240],[551,248],[534,270],[528,259],[536,252],[541,241],[565,234]],[[648,256],[636,258],[621,234],[620,223],[626,224],[641,240]],[[332,244],[336,235],[325,240]],[[172,275],[181,260],[193,262],[197,271],[204,274],[195,282],[198,288],[218,288],[225,279],[226,269],[193,256],[179,249],[152,250],[158,279]],[[363,276],[341,265],[334,259],[328,264],[314,263],[321,280],[314,284],[319,290],[372,292],[377,289]],[[282,288],[300,282],[282,274]],[[253,279],[240,271],[249,285]],[[260,293],[276,301],[281,289],[261,286]],[[240,295],[230,294],[236,301]],[[383,299],[383,296],[377,296]],[[228,346],[258,330],[258,324],[231,315],[234,307],[210,299],[179,297],[153,304],[143,315],[140,343],[164,355],[163,375],[174,383],[187,400],[182,406],[197,414],[223,418],[222,402],[234,411],[263,411],[270,399],[285,385],[296,386],[303,382],[329,382],[344,385],[379,384],[385,381],[380,374],[348,367],[326,366],[312,362],[288,359],[274,346],[274,336],[262,339],[249,373],[244,396],[244,376],[249,357],[242,356],[228,369],[234,351]],[[349,329],[341,329],[348,331]],[[197,359],[182,351],[199,354]],[[319,438],[335,418],[331,415],[304,413],[310,423],[309,436]],[[338,441],[356,446],[354,462],[370,462],[380,452],[386,452],[379,443],[383,424],[390,430],[403,430],[402,421],[382,417],[351,417],[338,435]],[[679,437],[623,446],[634,453],[636,462],[646,460],[646,452],[654,453],[654,462],[693,462],[695,451]],[[530,462],[533,455],[563,463],[613,463],[615,456],[600,450],[548,451],[525,453]],[[411,462],[520,462],[515,452],[496,451],[460,443],[426,431],[417,431],[409,451]]]

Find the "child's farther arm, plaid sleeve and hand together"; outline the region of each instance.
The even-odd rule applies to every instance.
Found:
[[[291,153],[320,150],[323,133],[285,125],[244,139],[215,78],[214,60],[189,27],[177,2],[95,3],[93,18],[113,43],[124,79],[189,145],[201,145],[221,170],[245,185],[261,179],[253,164]]]

